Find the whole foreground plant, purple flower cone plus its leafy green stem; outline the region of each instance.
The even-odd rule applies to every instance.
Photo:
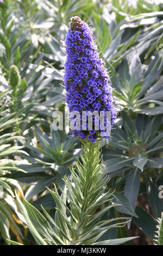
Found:
[[[73,17],[70,26],[66,37],[66,43],[70,47],[67,47],[65,65],[66,101],[69,110],[70,112],[74,111],[74,105],[77,105],[76,108],[79,111],[83,109],[93,111],[93,108],[98,111],[109,109],[113,124],[116,111],[112,104],[111,87],[108,84],[108,76],[101,63],[102,60],[98,58],[96,46],[92,41],[91,30],[79,17]],[[85,40],[86,47],[76,44],[76,50],[79,50],[78,54],[73,52],[74,46],[72,42],[68,41],[68,39],[74,40],[74,38],[76,41],[79,41],[79,38],[83,38],[82,42]],[[86,57],[83,52],[89,53],[89,57]],[[72,58],[74,61],[71,60]],[[82,58],[82,63],[77,62],[77,58]],[[72,78],[73,75],[74,78]],[[73,93],[74,89],[76,89],[76,94]],[[92,99],[93,93],[95,93],[95,99]],[[90,97],[87,97],[87,94],[90,94]],[[98,98],[101,103],[98,102]],[[81,105],[82,102],[83,105]],[[93,108],[91,108],[91,103],[93,103]],[[65,187],[64,190],[61,190],[62,195],[59,195],[56,187],[54,191],[48,189],[56,204],[55,220],[43,207],[44,216],[26,199],[23,199],[23,204],[17,197],[21,212],[36,242],[39,245],[119,245],[135,238],[102,239],[102,235],[107,230],[123,227],[126,224],[126,217],[121,218],[125,219],[124,222],[120,222],[120,218],[102,220],[106,211],[119,204],[111,202],[113,192],[105,192],[109,179],[103,166],[101,150],[99,150],[101,145],[99,133],[87,129],[85,132],[75,131],[73,134],[79,135],[82,139],[83,153],[76,161],[76,167],[71,168],[73,182],[65,176]],[[18,245],[13,241],[10,242]]]

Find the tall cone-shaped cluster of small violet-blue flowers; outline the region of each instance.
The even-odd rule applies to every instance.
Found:
[[[98,137],[104,137],[102,136],[104,130],[100,129],[100,125],[99,129],[95,130],[95,118],[92,130],[87,124],[86,130],[82,130],[82,112],[109,111],[111,124],[114,124],[117,111],[112,102],[111,83],[108,81],[104,62],[98,56],[90,27],[77,16],[71,18],[65,43],[67,46],[64,77],[66,102],[70,113],[72,111],[81,113],[81,129],[72,133],[82,139],[88,138],[93,143]],[[105,125],[106,119],[105,116]]]

